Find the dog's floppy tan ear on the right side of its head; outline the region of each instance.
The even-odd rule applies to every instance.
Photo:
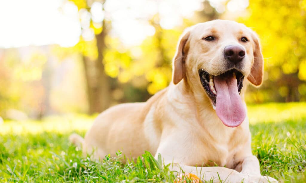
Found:
[[[261,53],[259,38],[255,32],[251,31],[252,39],[254,41],[254,63],[251,73],[248,75],[248,81],[255,86],[259,86],[263,82],[263,54]]]

